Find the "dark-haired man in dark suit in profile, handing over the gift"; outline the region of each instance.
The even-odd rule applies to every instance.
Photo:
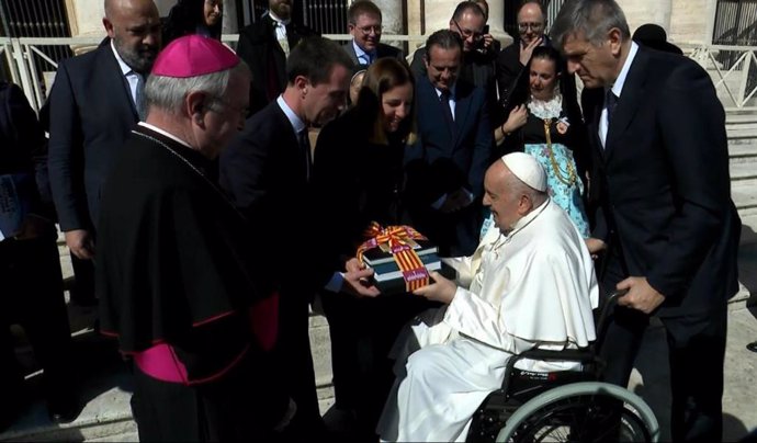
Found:
[[[251,116],[221,156],[221,185],[250,222],[259,253],[272,264],[262,274],[280,294],[276,352],[297,404],[290,430],[295,441],[313,440],[323,428],[308,339],[307,306],[315,291],[328,283],[336,292],[377,294],[360,283],[371,271],[330,275],[328,261],[319,263],[323,258],[313,255],[319,249],[314,246],[317,229],[308,230],[307,217],[301,216],[312,209],[308,126],[328,123],[344,107],[351,66],[337,43],[304,38],[287,60],[284,92]]]

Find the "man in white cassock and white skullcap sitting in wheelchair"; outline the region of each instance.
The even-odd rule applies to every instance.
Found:
[[[509,154],[488,169],[484,185],[497,229],[472,257],[448,261],[459,286],[434,273],[433,284],[415,292],[448,306],[422,313],[395,344],[397,379],[377,428],[383,441],[464,441],[476,408],[500,387],[510,356],[595,340],[591,257],[547,196],[542,167],[527,154]],[[574,365],[516,364],[528,371]]]

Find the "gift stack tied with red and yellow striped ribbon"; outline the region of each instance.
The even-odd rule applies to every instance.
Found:
[[[373,269],[382,294],[413,292],[431,283],[433,271],[449,276],[452,269],[441,262],[437,247],[409,226],[382,227],[373,223],[369,238],[358,249],[358,259]]]

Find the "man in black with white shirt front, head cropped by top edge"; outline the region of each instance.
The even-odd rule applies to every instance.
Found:
[[[286,57],[303,37],[318,33],[292,20],[295,0],[269,0],[268,12],[239,32],[237,55],[252,71],[250,114],[276,100],[286,87]]]

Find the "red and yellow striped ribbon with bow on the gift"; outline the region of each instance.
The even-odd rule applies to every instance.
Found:
[[[420,232],[409,226],[387,226],[382,227],[375,222],[371,223],[365,232],[369,238],[358,248],[358,260],[363,263],[363,253],[369,249],[381,248],[394,258],[395,263],[403,273],[405,289],[413,292],[419,287],[428,285],[430,282],[429,273],[423,262],[415,251],[417,243],[415,240],[426,240]]]

